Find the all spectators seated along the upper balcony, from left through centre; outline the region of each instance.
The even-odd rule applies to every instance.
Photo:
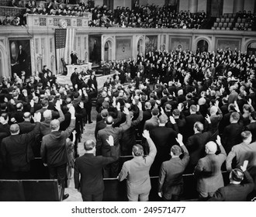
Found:
[[[11,5],[16,5],[16,1],[12,0]],[[20,17],[24,19],[21,21],[23,25],[26,24],[27,14],[83,16],[85,12],[92,12],[89,26],[202,29],[208,22],[204,11],[195,14],[189,11],[176,12],[173,5],[135,4],[133,9],[118,6],[112,12],[106,5],[92,7],[92,4],[85,5],[83,2],[79,5],[64,5],[54,0],[45,6],[29,1],[25,7],[26,13]]]

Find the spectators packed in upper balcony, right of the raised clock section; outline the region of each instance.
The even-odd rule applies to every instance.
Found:
[[[112,13],[103,5],[90,10],[90,26],[201,29],[205,25],[206,13],[203,11],[192,14],[172,9],[172,5],[137,5],[133,9],[117,7]]]

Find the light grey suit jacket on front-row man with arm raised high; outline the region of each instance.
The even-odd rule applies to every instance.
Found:
[[[132,160],[124,162],[122,170],[119,173],[119,181],[127,178],[127,192],[142,194],[149,192],[151,189],[149,170],[157,154],[157,149],[151,139],[147,140],[147,143],[150,147],[147,157],[134,157]]]

